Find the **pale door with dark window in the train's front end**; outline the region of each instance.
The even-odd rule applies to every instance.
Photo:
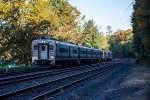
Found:
[[[39,45],[39,56],[40,56],[40,59],[48,59],[48,45],[47,44]]]

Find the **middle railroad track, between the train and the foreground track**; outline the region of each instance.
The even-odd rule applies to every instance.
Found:
[[[46,77],[54,74],[60,74],[60,73],[65,73],[69,71],[74,71],[78,69],[87,69],[90,68],[91,66],[94,66],[94,64],[91,65],[85,65],[85,66],[78,66],[78,67],[72,67],[72,68],[64,68],[64,69],[58,69],[58,70],[48,70],[48,71],[39,71],[39,72],[33,72],[33,73],[25,73],[22,75],[14,75],[14,76],[8,76],[8,77],[3,77],[0,79],[0,86],[3,85],[8,85],[16,82],[22,82],[22,81],[27,81],[27,80],[32,80],[35,78],[41,78],[41,77]]]

